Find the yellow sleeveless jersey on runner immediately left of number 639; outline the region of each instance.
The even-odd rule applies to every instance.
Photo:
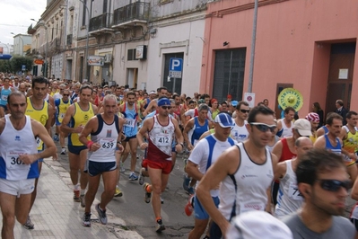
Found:
[[[92,103],[89,103],[90,107],[88,111],[83,111],[78,104],[78,102],[74,103],[74,116],[71,119],[71,127],[77,128],[79,126],[85,126],[87,121],[90,120],[94,116]],[[80,134],[72,133],[68,136],[68,145],[70,146],[83,146],[83,143],[79,140]],[[91,137],[87,137],[89,140]]]

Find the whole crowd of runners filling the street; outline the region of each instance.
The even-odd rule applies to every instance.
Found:
[[[155,231],[165,230],[161,195],[177,154],[185,152],[183,210],[188,217],[194,212],[188,238],[354,238],[354,226],[358,231],[358,206],[352,222],[341,217],[348,191],[358,199],[358,113],[341,100],[324,124],[317,102],[301,119],[292,107],[278,119],[266,99],[250,108],[231,95],[218,102],[207,93],[179,95],[166,87],[146,92],[0,75],[3,238],[13,238],[15,218],[35,227],[30,214],[42,159],[57,160],[57,154],[68,155],[83,226],[91,226],[100,181],[95,208],[100,223],[108,223],[106,207],[124,193],[118,182],[129,157],[125,180],[143,185]],[[138,148],[145,152],[139,168]]]

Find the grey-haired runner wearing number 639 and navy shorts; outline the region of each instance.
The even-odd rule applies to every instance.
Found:
[[[117,184],[117,162],[115,152],[123,151],[120,143],[124,121],[117,115],[117,97],[108,94],[103,98],[103,113],[89,120],[79,137],[81,143],[89,149],[87,160],[88,190],[84,196],[85,208],[83,226],[91,226],[91,207],[96,196],[100,175],[104,190],[100,203],[95,206],[101,224],[107,224],[106,207],[113,198]],[[91,140],[88,136],[91,134]]]

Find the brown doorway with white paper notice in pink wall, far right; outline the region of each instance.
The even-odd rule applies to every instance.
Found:
[[[329,59],[326,115],[336,111],[336,100],[343,100],[349,111],[354,75],[355,42],[331,45]]]

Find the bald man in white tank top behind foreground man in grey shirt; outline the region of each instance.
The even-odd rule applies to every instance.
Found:
[[[277,164],[275,169],[275,180],[280,181],[280,187],[275,207],[275,217],[279,219],[292,214],[302,206],[303,198],[297,188],[295,172],[297,164],[302,160],[302,156],[312,147],[313,144],[310,138],[299,137],[294,144],[297,157]]]

